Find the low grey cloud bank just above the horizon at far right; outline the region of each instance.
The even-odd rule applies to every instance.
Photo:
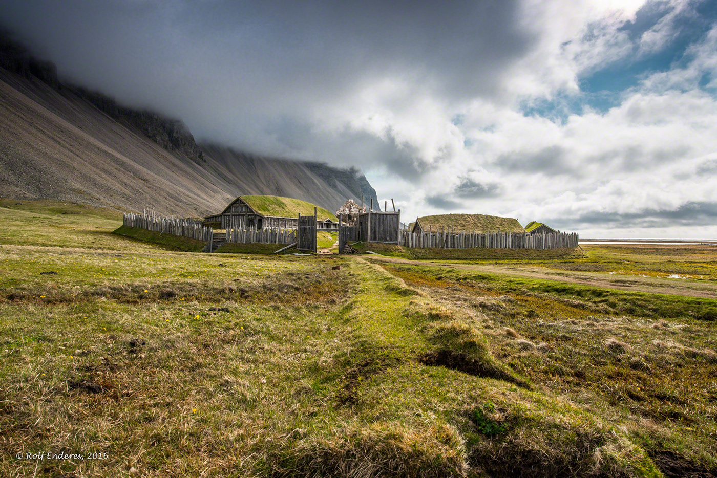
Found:
[[[593,211],[575,218],[546,219],[547,224],[566,230],[591,225],[617,229],[710,226],[716,221],[717,203],[704,201],[690,201],[675,209],[643,209],[632,213]]]

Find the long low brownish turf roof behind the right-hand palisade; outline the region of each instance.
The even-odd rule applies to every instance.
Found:
[[[454,232],[516,232],[525,233],[518,219],[489,216],[488,214],[437,214],[423,216],[408,226],[416,234],[436,231]]]

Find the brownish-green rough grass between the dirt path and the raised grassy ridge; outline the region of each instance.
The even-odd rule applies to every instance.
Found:
[[[444,297],[444,307],[473,311],[496,359],[531,383],[624,423],[657,464],[675,465],[675,476],[701,467],[717,471],[711,378],[717,322],[706,313],[713,300],[445,267],[386,269]]]

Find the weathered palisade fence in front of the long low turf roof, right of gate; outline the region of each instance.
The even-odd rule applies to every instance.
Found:
[[[557,249],[577,247],[576,232],[554,232],[550,234],[521,234],[511,232],[453,232],[437,231],[414,234],[400,231],[399,245],[403,247],[436,247],[438,249]]]

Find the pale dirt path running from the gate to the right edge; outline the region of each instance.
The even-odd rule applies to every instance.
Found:
[[[374,255],[365,257],[372,262],[392,264],[414,264],[421,266],[450,267],[451,269],[488,274],[503,274],[529,279],[547,279],[573,284],[592,285],[606,289],[633,290],[654,294],[684,295],[717,299],[717,283],[690,279],[663,279],[661,277],[635,277],[626,274],[606,274],[604,272],[554,271],[543,267],[518,264],[447,264],[445,262],[426,262]]]

